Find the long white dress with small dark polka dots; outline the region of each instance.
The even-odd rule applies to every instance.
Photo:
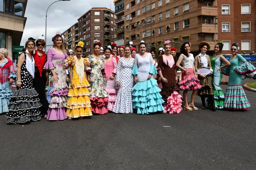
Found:
[[[116,71],[116,81],[120,82],[120,88],[114,104],[114,113],[133,113],[131,89],[133,87],[133,69],[134,59],[126,60],[121,57],[118,61]]]

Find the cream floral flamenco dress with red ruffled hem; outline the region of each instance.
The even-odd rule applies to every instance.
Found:
[[[107,114],[108,110],[105,108],[108,101],[108,92],[104,90],[103,76],[105,67],[103,64],[103,57],[99,60],[93,56],[89,56],[89,64],[86,68],[86,73],[90,75],[90,102],[91,110],[94,114]]]

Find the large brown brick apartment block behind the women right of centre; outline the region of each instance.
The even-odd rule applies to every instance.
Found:
[[[179,48],[190,41],[191,51],[198,52],[198,43],[206,41],[213,50],[218,39],[217,0],[125,0],[125,44],[141,40],[162,47],[164,40]]]

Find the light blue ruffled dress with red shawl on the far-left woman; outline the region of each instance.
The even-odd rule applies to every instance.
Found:
[[[0,63],[0,114],[9,111],[8,105],[12,96],[9,79],[17,77],[12,61],[8,57],[6,59]]]

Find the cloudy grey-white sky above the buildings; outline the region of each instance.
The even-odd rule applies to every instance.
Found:
[[[28,0],[25,17],[27,22],[20,45],[29,37],[37,39],[45,34],[45,14],[49,5],[56,0]],[[114,11],[113,0],[70,0],[56,2],[47,13],[47,44],[57,31],[64,32],[92,7],[106,7]]]

